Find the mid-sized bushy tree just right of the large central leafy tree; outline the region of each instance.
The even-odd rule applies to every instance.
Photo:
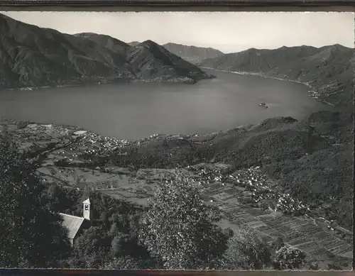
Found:
[[[241,228],[234,231],[234,236],[228,241],[224,253],[224,268],[262,269],[271,263],[268,245],[261,241],[251,228]]]

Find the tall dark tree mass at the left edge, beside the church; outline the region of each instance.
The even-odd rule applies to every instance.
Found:
[[[60,266],[70,253],[67,230],[8,133],[0,136],[0,168],[0,267]]]

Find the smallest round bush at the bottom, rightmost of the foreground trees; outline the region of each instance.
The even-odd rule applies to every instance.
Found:
[[[275,253],[274,265],[280,270],[293,270],[300,268],[305,263],[305,253],[288,245],[283,245]]]

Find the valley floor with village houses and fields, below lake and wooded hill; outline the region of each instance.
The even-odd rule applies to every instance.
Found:
[[[222,163],[201,163],[172,170],[94,167],[88,156],[104,156],[139,141],[106,138],[69,126],[29,123],[18,129],[13,122],[6,122],[6,127],[24,151],[33,148],[45,151],[38,168],[43,182],[58,182],[73,189],[95,189],[147,206],[160,183],[179,172],[199,187],[205,202],[222,211],[222,228],[236,231],[240,226],[248,226],[268,242],[282,237],[288,245],[304,250],[309,260],[322,263],[335,258],[351,265],[353,233],[283,193],[275,180],[263,175],[260,167],[235,172]],[[4,130],[4,123],[1,129]],[[323,265],[325,268],[327,263]]]

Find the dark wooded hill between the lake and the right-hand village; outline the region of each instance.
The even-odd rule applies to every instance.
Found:
[[[352,140],[337,112],[319,111],[302,121],[268,118],[209,135],[143,139],[117,149],[110,162],[136,168],[223,162],[231,165],[230,172],[261,166],[285,193],[351,229]],[[87,158],[95,160],[93,155]]]

